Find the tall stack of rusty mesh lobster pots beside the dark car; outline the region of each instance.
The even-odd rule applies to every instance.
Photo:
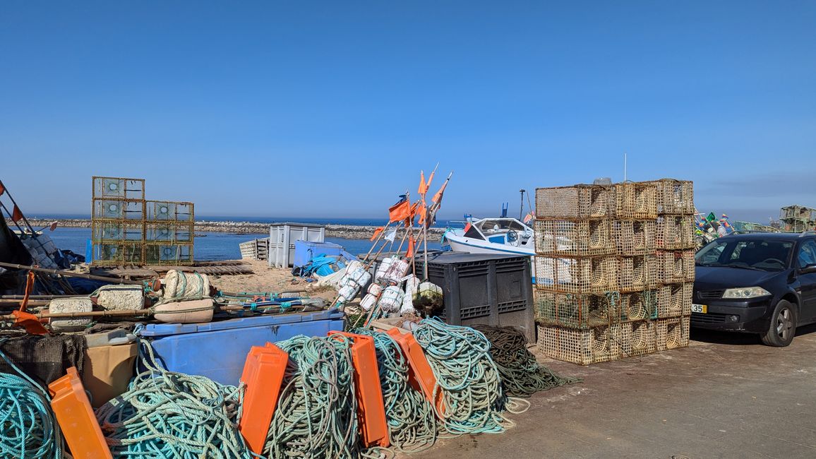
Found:
[[[692,182],[536,189],[538,346],[587,365],[689,343]]]

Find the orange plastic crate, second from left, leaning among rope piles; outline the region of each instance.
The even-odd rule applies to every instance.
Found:
[[[252,346],[246,355],[241,382],[246,384],[243,414],[238,430],[246,439],[252,452],[264,452],[266,434],[281,392],[289,354],[272,343]]]

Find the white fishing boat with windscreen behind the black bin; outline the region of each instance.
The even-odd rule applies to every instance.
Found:
[[[533,229],[508,217],[482,218],[465,222],[464,228],[449,228],[441,244],[454,252],[535,255]]]

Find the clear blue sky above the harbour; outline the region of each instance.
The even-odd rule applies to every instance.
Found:
[[[701,210],[816,207],[816,2],[0,3],[30,213],[110,175],[203,216],[384,216],[438,162],[442,216],[494,215],[624,151]]]

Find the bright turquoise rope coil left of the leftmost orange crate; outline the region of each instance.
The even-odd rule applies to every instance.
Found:
[[[0,373],[0,457],[59,459],[62,434],[46,391],[2,351],[0,357],[17,372]]]

